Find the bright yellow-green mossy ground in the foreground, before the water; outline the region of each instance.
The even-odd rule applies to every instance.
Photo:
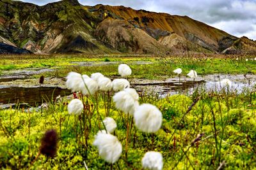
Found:
[[[85,98],[84,98],[85,99]],[[97,106],[89,100],[86,135],[83,118],[69,115],[66,99],[51,103],[47,110],[30,113],[17,108],[0,111],[0,166],[2,169],[28,169],[40,148],[40,138],[47,129],[56,129],[60,141],[54,159],[40,155],[32,169],[111,169],[100,159],[92,145],[93,136],[104,127],[104,100],[97,95]],[[194,106],[195,99],[199,99]],[[140,103],[155,104],[163,113],[163,124],[156,134],[140,132],[134,125],[129,133],[125,156],[127,115],[111,104],[109,117],[117,122],[115,135],[123,153],[114,169],[141,169],[141,158],[147,151],[163,154],[164,169],[253,169],[256,166],[256,95],[194,94],[159,99],[141,96]],[[189,110],[189,106],[191,110]],[[99,109],[99,112],[97,111]],[[132,117],[129,118],[130,121]],[[82,123],[83,124],[83,123]],[[197,143],[193,141],[203,134]]]

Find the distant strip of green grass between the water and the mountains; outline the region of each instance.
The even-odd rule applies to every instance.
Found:
[[[238,60],[236,60],[238,58]],[[248,59],[248,61],[246,61]],[[151,55],[26,55],[1,56],[0,71],[26,68],[58,68],[45,76],[66,76],[70,70],[83,74],[100,72],[106,76],[118,76],[116,69],[120,63],[104,65],[102,62],[152,62],[152,64],[130,64],[131,78],[147,78],[150,80],[174,76],[173,70],[177,67],[186,75],[189,70],[195,69],[198,74],[256,74],[255,56],[176,56],[155,57]],[[95,62],[102,66],[79,66],[72,62]],[[38,76],[36,76],[38,77]]]

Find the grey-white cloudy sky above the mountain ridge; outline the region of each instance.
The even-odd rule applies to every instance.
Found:
[[[44,5],[56,0],[22,0]],[[79,0],[79,3],[124,5],[136,10],[187,15],[234,36],[256,40],[256,0]]]

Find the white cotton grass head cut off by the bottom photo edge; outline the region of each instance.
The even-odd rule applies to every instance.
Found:
[[[142,167],[150,170],[161,170],[163,169],[163,156],[159,152],[150,151],[145,153],[141,160]]]

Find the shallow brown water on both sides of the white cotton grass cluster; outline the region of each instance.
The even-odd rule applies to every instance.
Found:
[[[159,97],[166,97],[173,94],[191,94],[195,89],[206,91],[220,90],[220,80],[228,78],[232,81],[230,91],[237,93],[244,89],[255,89],[256,75],[253,74],[211,74],[200,76],[193,80],[192,78],[181,77],[180,79],[168,78],[166,80],[131,80],[131,87],[138,90],[141,95],[156,94]],[[45,101],[54,100],[57,96],[68,96],[70,90],[60,87],[12,87],[0,86],[0,105],[13,103],[26,103],[29,106],[38,106]]]

